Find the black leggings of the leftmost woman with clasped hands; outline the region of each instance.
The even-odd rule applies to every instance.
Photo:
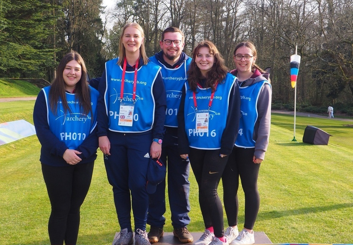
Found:
[[[48,222],[50,244],[74,245],[80,225],[80,207],[91,184],[94,162],[65,167],[42,163],[52,212]]]

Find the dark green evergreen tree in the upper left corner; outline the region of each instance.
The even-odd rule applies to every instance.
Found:
[[[45,40],[54,18],[50,4],[40,0],[2,0],[0,4],[0,76],[43,76],[52,62]]]

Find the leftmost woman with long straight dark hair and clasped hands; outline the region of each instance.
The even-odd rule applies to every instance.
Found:
[[[71,52],[61,59],[58,76],[43,88],[33,111],[41,143],[42,173],[52,206],[50,244],[74,245],[80,207],[91,184],[97,157],[98,91],[88,85],[82,57]]]

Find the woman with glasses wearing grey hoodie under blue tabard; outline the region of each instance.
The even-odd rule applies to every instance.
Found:
[[[271,123],[271,85],[269,74],[256,64],[256,48],[241,42],[234,49],[238,78],[241,118],[237,140],[222,175],[223,201],[229,227],[226,237],[230,244],[254,244],[253,227],[260,206],[257,179],[267,150]],[[244,229],[238,234],[239,177],[245,193]]]

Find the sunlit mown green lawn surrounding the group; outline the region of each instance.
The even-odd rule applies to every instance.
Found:
[[[0,123],[32,121],[34,101],[0,103]],[[265,232],[273,243],[353,243],[352,122],[273,114],[268,152],[261,164],[261,206],[255,231]],[[306,125],[333,135],[329,145],[302,142]],[[39,162],[36,136],[0,146],[0,244],[49,244],[47,222],[50,204]],[[198,189],[191,173],[192,232],[204,230]],[[220,185],[219,194],[222,196]],[[168,210],[168,207],[167,207]],[[165,231],[171,232],[170,211]],[[244,194],[239,191],[239,228],[244,224]],[[225,226],[227,220],[225,219]],[[148,228],[149,229],[149,228]],[[95,163],[91,188],[81,208],[78,244],[110,245],[119,231],[101,152]]]

